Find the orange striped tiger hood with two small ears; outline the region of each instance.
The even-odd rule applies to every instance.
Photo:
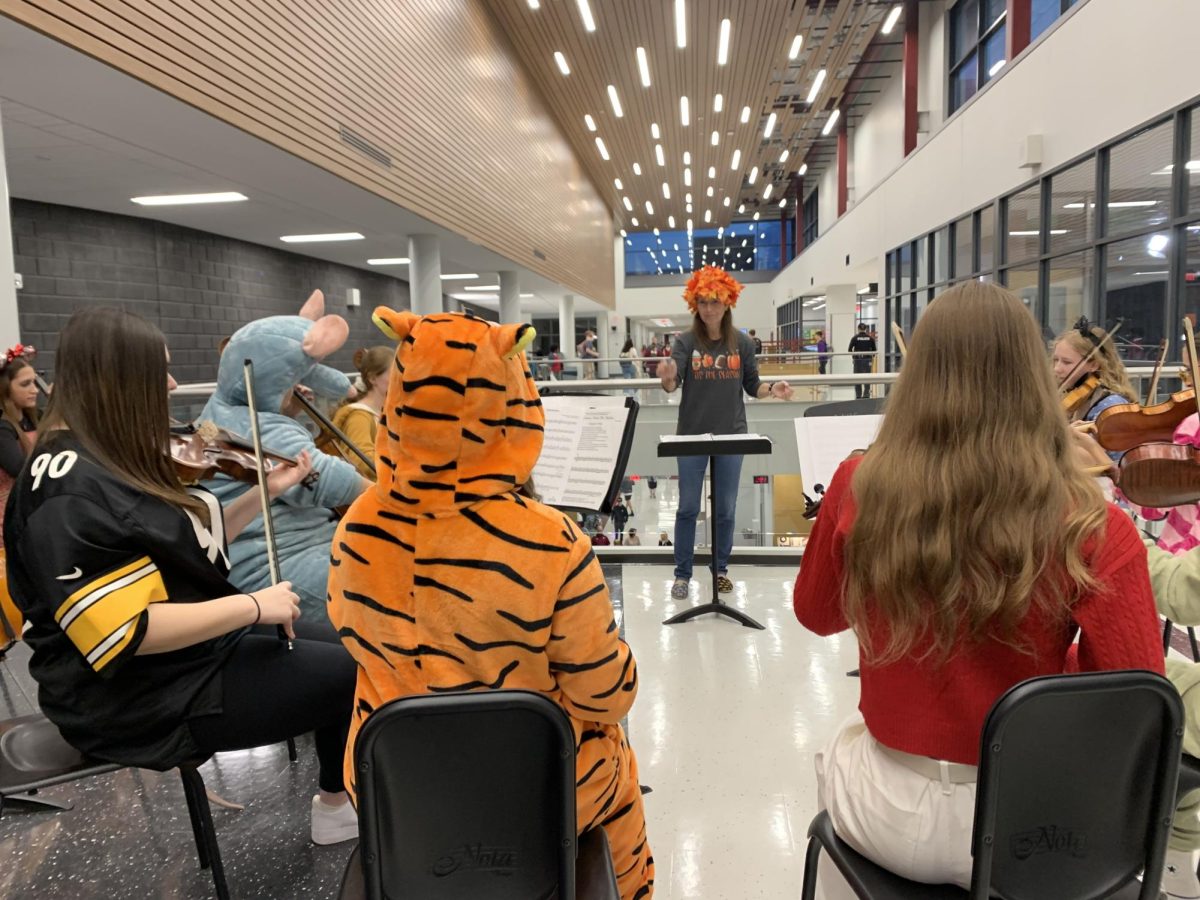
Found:
[[[376,493],[397,512],[448,514],[520,487],[546,418],[526,361],[532,325],[377,307],[398,342],[376,437]]]

